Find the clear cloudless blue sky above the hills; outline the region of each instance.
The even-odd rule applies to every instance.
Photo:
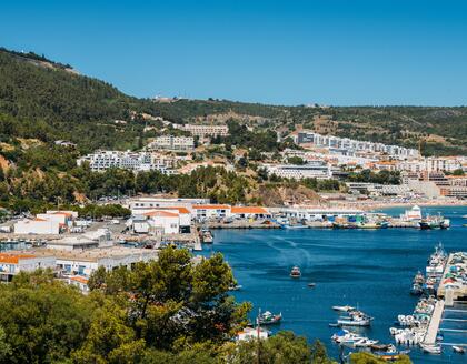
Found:
[[[461,0],[11,0],[0,46],[137,97],[467,104]]]

